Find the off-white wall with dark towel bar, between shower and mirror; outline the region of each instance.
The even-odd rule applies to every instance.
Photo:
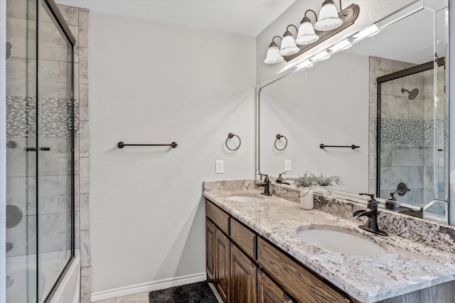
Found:
[[[254,177],[255,68],[255,38],[90,13],[92,292],[205,272],[203,181]]]

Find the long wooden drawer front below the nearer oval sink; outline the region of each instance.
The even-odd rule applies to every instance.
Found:
[[[257,239],[257,262],[296,302],[350,302],[262,238]]]

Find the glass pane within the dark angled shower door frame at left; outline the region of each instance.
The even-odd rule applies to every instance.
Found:
[[[38,298],[44,301],[73,256],[73,48],[38,1],[36,109]]]

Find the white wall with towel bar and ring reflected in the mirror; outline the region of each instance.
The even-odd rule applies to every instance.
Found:
[[[284,177],[323,172],[341,176],[343,185],[337,189],[368,192],[369,67],[366,56],[337,53],[263,87],[261,172],[277,176],[284,172],[284,160],[289,159],[292,171]],[[274,148],[277,133],[288,140],[282,151]],[[360,148],[321,150],[321,143]]]

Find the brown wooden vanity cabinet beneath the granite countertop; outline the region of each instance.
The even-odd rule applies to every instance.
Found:
[[[350,302],[209,200],[205,214],[207,278],[224,302]]]

